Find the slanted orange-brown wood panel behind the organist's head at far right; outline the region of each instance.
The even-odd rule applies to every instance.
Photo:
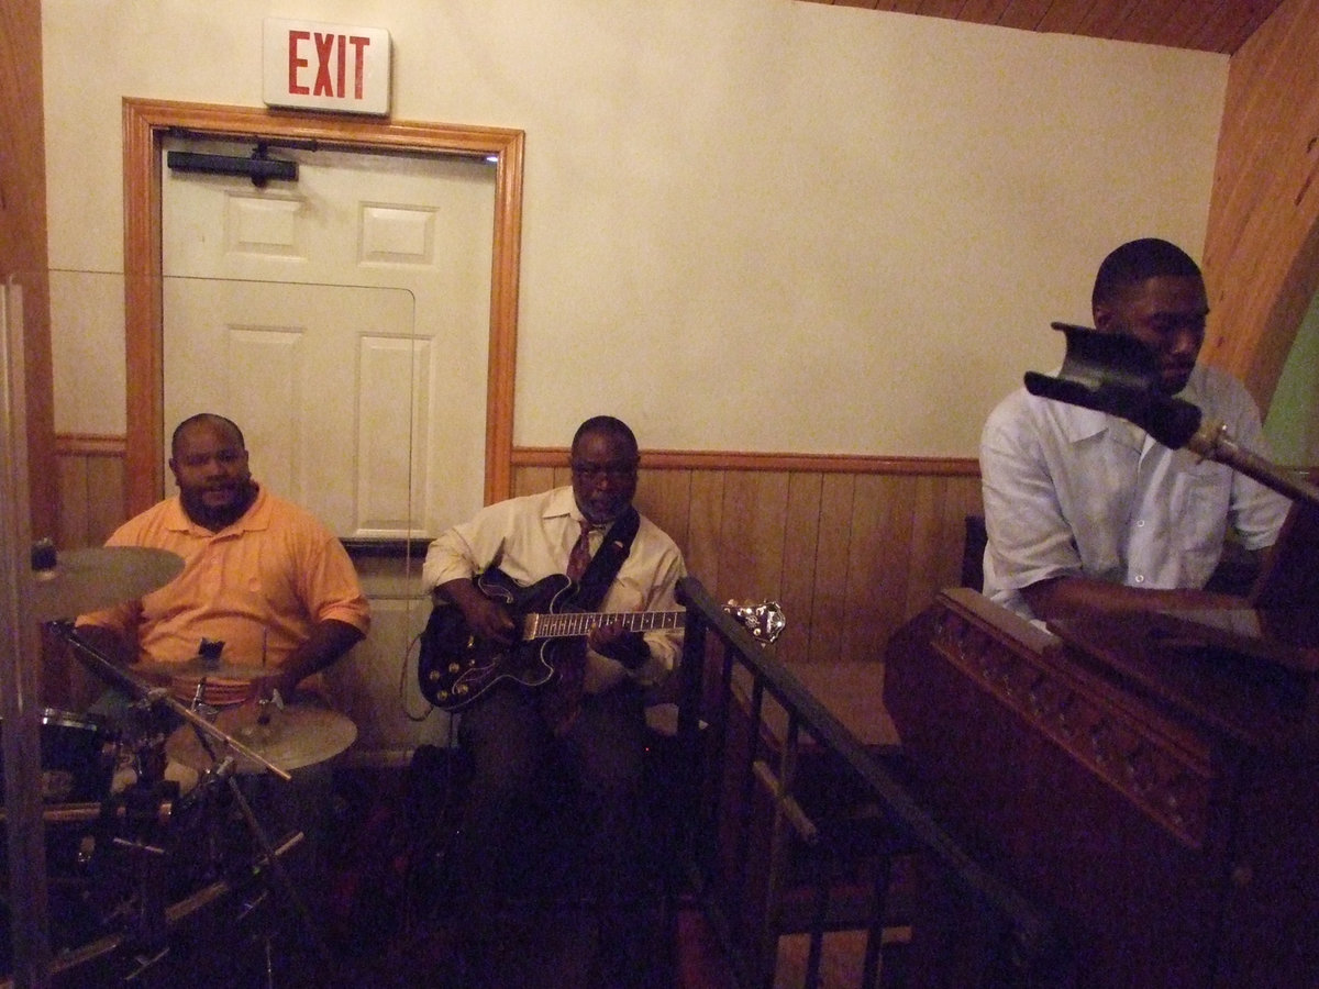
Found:
[[[1319,0],[1286,0],[1231,61],[1204,244],[1204,359],[1268,409],[1319,287]]]

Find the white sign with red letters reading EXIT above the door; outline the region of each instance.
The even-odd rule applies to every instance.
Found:
[[[269,107],[389,112],[389,32],[317,21],[265,21],[262,99]]]

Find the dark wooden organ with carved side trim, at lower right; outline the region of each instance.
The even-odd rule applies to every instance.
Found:
[[[1319,986],[1315,608],[1282,636],[1227,616],[1241,628],[1129,614],[1045,632],[950,589],[889,644],[885,704],[918,786],[1054,911],[1051,985]],[[955,897],[918,923],[921,982],[987,984],[958,971],[973,924]]]

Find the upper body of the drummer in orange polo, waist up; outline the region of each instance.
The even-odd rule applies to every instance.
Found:
[[[170,450],[178,494],[125,522],[107,546],[169,550],[183,559],[183,572],[140,600],[82,616],[79,634],[131,671],[165,673],[185,702],[195,694],[203,641],[223,644],[222,661],[270,671],[208,676],[208,704],[240,703],[256,691],[278,690],[286,702],[298,690],[319,694],[319,671],[371,626],[343,545],[252,479],[243,433],[230,419],[202,413],[183,421]],[[183,674],[169,676],[171,665]]]

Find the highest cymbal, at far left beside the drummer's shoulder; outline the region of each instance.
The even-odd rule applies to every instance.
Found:
[[[32,571],[37,621],[73,620],[98,608],[132,601],[164,587],[183,570],[182,558],[142,546],[66,550],[50,570]]]

